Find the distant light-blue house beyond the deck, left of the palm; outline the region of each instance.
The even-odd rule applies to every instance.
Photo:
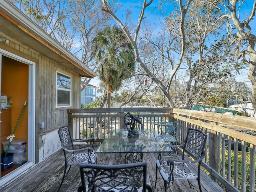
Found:
[[[81,92],[81,104],[87,105],[94,103],[96,97],[96,86],[87,84],[86,88]]]

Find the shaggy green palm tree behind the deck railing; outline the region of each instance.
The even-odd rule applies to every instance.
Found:
[[[134,49],[118,26],[106,26],[92,44],[96,62],[100,62],[98,76],[106,86],[107,108],[110,108],[111,93],[119,90],[122,80],[134,73]]]

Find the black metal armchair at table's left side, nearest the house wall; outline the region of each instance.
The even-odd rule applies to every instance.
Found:
[[[94,138],[74,139],[72,138],[70,134],[70,130],[67,126],[61,127],[58,130],[58,133],[60,136],[60,144],[63,149],[64,157],[65,157],[65,169],[64,169],[62,181],[58,188],[58,191],[59,191],[64,181],[64,178],[66,175],[66,169],[68,166],[70,166],[68,169],[68,172],[69,172],[72,165],[79,165],[81,163],[92,163],[92,164],[96,163],[96,153],[94,151],[94,146],[93,146],[96,140]],[[92,146],[75,149],[73,142],[86,142],[86,143],[92,144]],[[84,153],[77,153],[77,152],[84,152]],[[70,158],[68,158],[68,153],[72,153]]]

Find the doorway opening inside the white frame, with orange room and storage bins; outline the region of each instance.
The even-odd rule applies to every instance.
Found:
[[[26,105],[21,116],[20,114],[25,102],[28,101],[28,65],[2,56],[1,79],[1,154],[6,150],[10,153],[8,155],[12,154],[6,157],[6,160],[1,158],[2,162],[5,162],[4,164],[1,162],[2,177],[27,162],[28,108]],[[10,140],[7,138],[13,134],[15,137],[9,146]]]

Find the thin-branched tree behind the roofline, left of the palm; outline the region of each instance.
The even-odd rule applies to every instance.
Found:
[[[92,57],[92,39],[112,19],[94,0],[9,0],[60,42],[81,61],[97,72],[98,65]],[[118,7],[117,7],[118,8]],[[90,78],[81,78],[81,91]]]

